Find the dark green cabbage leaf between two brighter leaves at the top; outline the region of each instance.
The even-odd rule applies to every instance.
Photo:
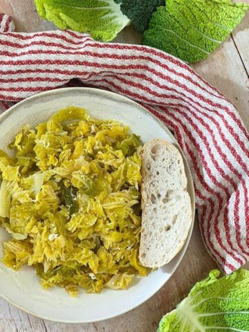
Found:
[[[121,10],[124,15],[132,19],[133,26],[138,33],[143,33],[149,24],[151,14],[156,7],[165,5],[165,0],[114,0],[121,3]]]

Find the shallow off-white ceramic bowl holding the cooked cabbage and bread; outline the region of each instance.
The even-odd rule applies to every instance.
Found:
[[[48,91],[16,104],[0,116],[0,148],[6,150],[24,124],[34,127],[46,121],[55,111],[71,105],[86,108],[95,118],[120,120],[128,124],[131,131],[141,136],[143,142],[164,138],[181,151],[165,125],[136,102],[116,93],[88,88]],[[193,227],[194,187],[186,160],[185,171],[192,199]],[[24,266],[15,272],[0,263],[0,295],[28,313],[57,322],[96,322],[115,317],[145,302],[167,282],[183,259],[192,227],[185,246],[169,264],[150,273],[148,277],[136,277],[132,286],[125,291],[105,289],[102,294],[86,294],[82,290],[78,297],[72,298],[59,287],[45,291],[32,267]],[[3,241],[6,239],[9,239],[8,234],[0,228],[0,259],[3,257]]]

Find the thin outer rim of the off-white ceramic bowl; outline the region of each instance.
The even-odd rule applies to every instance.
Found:
[[[187,159],[185,157],[185,154],[183,154],[183,151],[182,151],[180,145],[178,144],[178,141],[176,140],[176,138],[174,137],[172,132],[169,131],[167,126],[159,118],[157,118],[153,113],[149,112],[145,107],[140,105],[138,102],[136,102],[134,100],[131,100],[130,98],[128,98],[128,97],[126,97],[122,94],[115,93],[115,92],[108,91],[108,90],[104,90],[104,89],[91,88],[91,87],[68,87],[68,88],[58,88],[58,89],[52,89],[52,90],[49,90],[49,91],[44,91],[44,92],[32,95],[28,98],[25,98],[24,100],[21,100],[20,102],[17,102],[15,105],[10,107],[6,111],[3,111],[3,113],[0,114],[0,126],[1,126],[1,124],[3,124],[3,122],[10,115],[15,113],[16,109],[19,109],[20,105],[25,104],[28,100],[34,100],[34,102],[35,102],[35,100],[39,99],[39,97],[41,97],[42,95],[53,95],[53,94],[57,94],[61,91],[64,91],[65,93],[66,92],[70,93],[70,92],[73,92],[73,91],[83,91],[83,90],[84,91],[93,91],[93,92],[95,92],[96,94],[99,94],[99,95],[102,93],[103,95],[106,95],[107,98],[108,98],[108,96],[113,96],[116,99],[120,98],[120,100],[122,100],[123,102],[129,102],[130,104],[135,104],[137,107],[140,108],[142,113],[147,114],[147,115],[149,114],[149,116],[151,116],[151,118],[153,118],[154,121],[156,121],[160,125],[160,127],[163,128],[164,131],[167,131],[169,136],[172,136],[172,138],[174,140],[174,145],[176,145],[178,150],[181,152],[181,156],[183,157],[183,162],[184,162],[184,165],[185,165],[185,169],[187,169],[187,182],[188,182],[188,187],[190,188],[190,191],[191,191],[190,192],[190,197],[191,197],[191,203],[192,203],[192,223],[191,223],[191,226],[190,226],[189,233],[187,235],[187,239],[185,241],[185,245],[180,250],[181,258],[178,261],[178,264],[176,264],[176,266],[174,266],[174,268],[172,268],[172,274],[169,276],[169,278],[166,281],[163,281],[160,284],[158,283],[158,287],[156,287],[156,291],[151,293],[149,296],[144,297],[142,300],[140,300],[138,303],[131,306],[131,308],[129,308],[129,309],[120,310],[120,312],[118,312],[118,313],[111,314],[111,315],[109,315],[107,317],[104,317],[104,318],[100,317],[100,319],[94,320],[94,321],[93,320],[84,320],[84,321],[78,320],[78,321],[76,321],[76,320],[63,320],[63,319],[58,320],[58,319],[53,319],[51,317],[46,317],[44,315],[39,315],[38,313],[35,313],[35,312],[33,312],[33,311],[31,311],[27,308],[24,308],[20,304],[16,303],[12,299],[10,299],[8,296],[3,295],[2,293],[0,293],[1,298],[5,299],[8,303],[12,304],[12,306],[15,306],[16,308],[20,309],[21,311],[24,311],[25,313],[28,313],[28,314],[33,315],[35,317],[41,318],[43,320],[48,320],[50,322],[58,322],[58,323],[64,323],[64,324],[84,324],[84,323],[87,324],[87,323],[101,322],[101,321],[109,320],[111,318],[118,317],[120,315],[123,315],[124,313],[128,313],[129,311],[132,311],[133,309],[137,308],[141,304],[147,302],[152,296],[154,296],[156,293],[158,293],[160,288],[162,288],[169,281],[169,279],[171,279],[172,275],[174,275],[176,269],[180,266],[181,261],[183,260],[183,257],[185,256],[185,252],[187,251],[187,248],[190,244],[190,239],[192,237],[192,232],[193,232],[193,228],[194,228],[194,220],[195,220],[195,209],[196,209],[194,182],[193,182],[193,178],[192,178],[192,173],[190,172],[190,166],[187,163]]]

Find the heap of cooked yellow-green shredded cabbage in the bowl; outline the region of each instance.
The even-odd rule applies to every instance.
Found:
[[[68,107],[0,151],[3,263],[33,266],[42,286],[127,288],[140,265],[141,141],[120,122]]]

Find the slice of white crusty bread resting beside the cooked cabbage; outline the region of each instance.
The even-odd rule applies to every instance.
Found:
[[[183,158],[174,145],[156,139],[142,149],[142,229],[139,259],[158,268],[183,248],[192,223]]]

